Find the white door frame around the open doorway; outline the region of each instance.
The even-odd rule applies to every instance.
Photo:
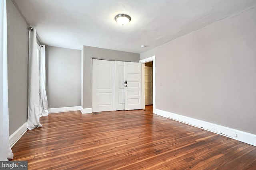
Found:
[[[146,59],[140,60],[140,63],[145,64],[153,61],[153,113],[156,110],[156,56],[148,57]],[[145,69],[145,68],[144,68]],[[145,109],[145,70],[142,68],[142,109]],[[143,97],[144,96],[144,97]]]

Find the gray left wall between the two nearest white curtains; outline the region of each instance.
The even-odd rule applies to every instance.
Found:
[[[10,135],[27,121],[28,27],[11,0],[7,0],[8,102]]]

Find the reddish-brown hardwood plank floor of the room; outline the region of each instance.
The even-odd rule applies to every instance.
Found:
[[[29,170],[255,170],[256,147],[150,111],[41,117],[12,148]]]

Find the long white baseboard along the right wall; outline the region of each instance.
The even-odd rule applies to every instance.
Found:
[[[220,135],[232,138],[232,139],[236,139],[237,141],[241,141],[241,142],[256,146],[256,135],[252,134],[252,133],[247,133],[244,131],[217,125],[217,124],[210,123],[207,121],[202,121],[202,120],[194,119],[191,117],[186,117],[183,115],[178,115],[178,114],[171,113],[168,111],[163,111],[160,109],[156,109],[156,111],[154,113],[157,115],[169,118],[169,119],[180,121],[180,122],[186,123],[188,125],[199,127],[201,129],[205,129],[207,131],[211,131],[211,132],[214,132],[214,133],[217,133],[217,134],[220,134]]]

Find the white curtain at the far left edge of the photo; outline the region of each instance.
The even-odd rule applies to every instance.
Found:
[[[10,160],[6,0],[0,0],[0,161]]]

